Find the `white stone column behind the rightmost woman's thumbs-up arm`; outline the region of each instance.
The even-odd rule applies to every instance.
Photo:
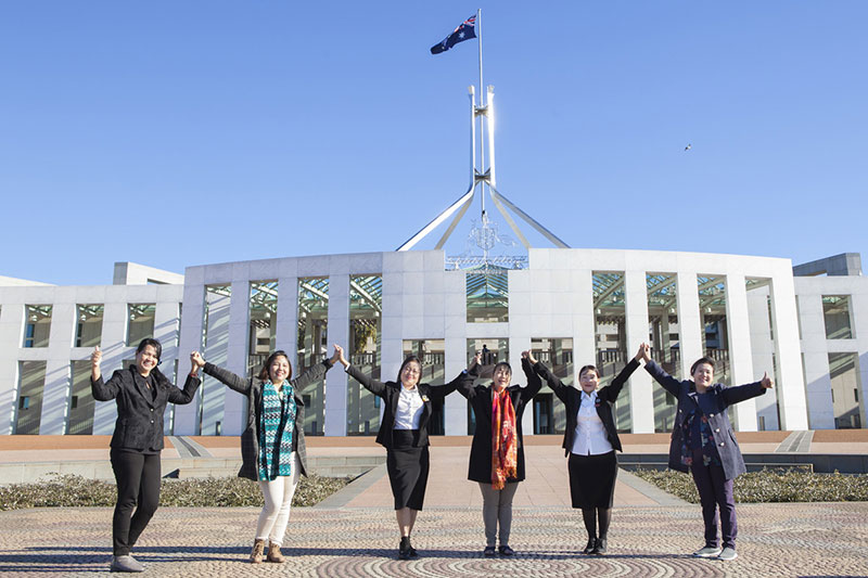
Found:
[[[731,365],[731,385],[742,385],[757,380],[753,371],[751,355],[751,323],[748,316],[748,291],[744,275],[730,273],[726,277],[726,323]],[[774,377],[773,377],[774,378]],[[739,432],[756,432],[756,401],[746,399],[736,403],[730,411],[738,416]]]

